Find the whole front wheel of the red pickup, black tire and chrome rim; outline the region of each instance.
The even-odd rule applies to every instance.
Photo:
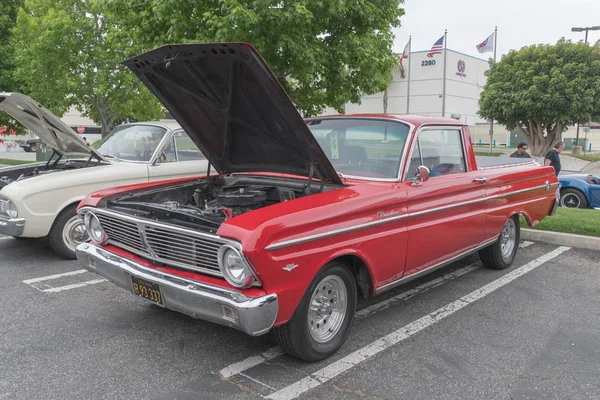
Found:
[[[279,345],[308,362],[334,354],[350,333],[357,293],[356,280],[346,265],[327,264],[312,280],[292,318],[274,329]]]

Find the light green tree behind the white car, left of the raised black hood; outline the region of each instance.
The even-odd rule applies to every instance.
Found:
[[[164,115],[158,100],[119,64],[141,48],[96,0],[25,0],[13,46],[15,75],[57,115],[75,105],[103,136],[126,118]]]

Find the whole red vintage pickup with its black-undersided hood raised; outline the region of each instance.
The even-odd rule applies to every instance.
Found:
[[[468,254],[507,268],[556,207],[554,170],[480,169],[445,118],[303,120],[247,44],[162,47],[126,61],[218,176],[129,185],[79,206],[81,265],[154,304],[321,360],[357,298]]]

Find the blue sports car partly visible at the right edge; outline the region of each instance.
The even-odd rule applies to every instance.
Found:
[[[560,205],[568,208],[600,209],[600,178],[594,175],[559,175]]]

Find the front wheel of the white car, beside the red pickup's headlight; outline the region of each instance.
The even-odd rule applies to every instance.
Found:
[[[77,215],[77,206],[72,205],[65,208],[56,217],[48,239],[52,249],[64,258],[75,260],[75,248],[89,240],[83,220]]]

